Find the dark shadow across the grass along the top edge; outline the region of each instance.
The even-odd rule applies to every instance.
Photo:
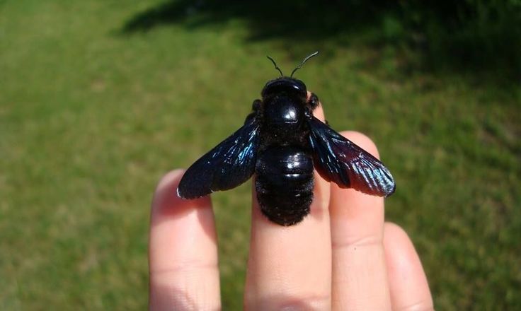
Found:
[[[290,52],[307,46],[320,46],[326,55],[346,45],[393,47],[404,51],[399,54],[406,69],[519,82],[521,5],[475,2],[171,0],[137,13],[122,33],[171,24],[224,28],[241,20],[246,40],[281,40]]]

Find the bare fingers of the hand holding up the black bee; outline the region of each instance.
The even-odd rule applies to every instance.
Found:
[[[314,114],[324,120],[321,107]],[[341,134],[378,157],[367,136]],[[149,307],[220,310],[212,201],[178,198],[182,175],[168,172],[151,204]],[[340,189],[316,173],[315,184],[311,214],[290,227],[268,221],[253,193],[244,308],[434,310],[411,240],[384,222],[384,199]]]

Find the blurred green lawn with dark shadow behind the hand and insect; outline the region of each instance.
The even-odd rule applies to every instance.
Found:
[[[317,49],[296,76],[377,143],[437,310],[520,307],[519,0],[1,0],[0,309],[146,308],[156,182]],[[250,187],[214,195],[224,310]]]

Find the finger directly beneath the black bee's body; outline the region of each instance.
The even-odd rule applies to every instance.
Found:
[[[316,115],[324,119],[321,108]],[[253,194],[246,309],[331,310],[329,184],[314,180],[311,213],[288,227],[268,221]]]

